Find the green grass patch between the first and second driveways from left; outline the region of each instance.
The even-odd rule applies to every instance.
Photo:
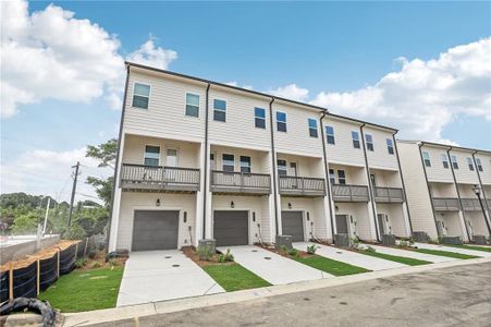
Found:
[[[271,286],[240,264],[210,265],[202,267],[202,269],[228,292]]]

